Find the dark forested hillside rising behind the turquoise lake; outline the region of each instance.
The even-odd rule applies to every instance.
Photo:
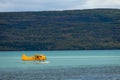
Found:
[[[120,49],[120,9],[1,12],[0,50]]]

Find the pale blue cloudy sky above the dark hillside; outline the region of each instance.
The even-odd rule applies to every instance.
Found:
[[[0,12],[117,8],[120,0],[0,0]]]

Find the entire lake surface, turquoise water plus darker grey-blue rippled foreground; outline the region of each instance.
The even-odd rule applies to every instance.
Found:
[[[49,63],[22,61],[23,53]],[[120,50],[1,51],[0,80],[120,80]]]

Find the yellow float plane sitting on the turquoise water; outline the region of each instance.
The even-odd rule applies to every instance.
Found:
[[[43,54],[34,56],[26,56],[25,54],[22,54],[23,61],[45,61],[46,59],[46,56]]]

